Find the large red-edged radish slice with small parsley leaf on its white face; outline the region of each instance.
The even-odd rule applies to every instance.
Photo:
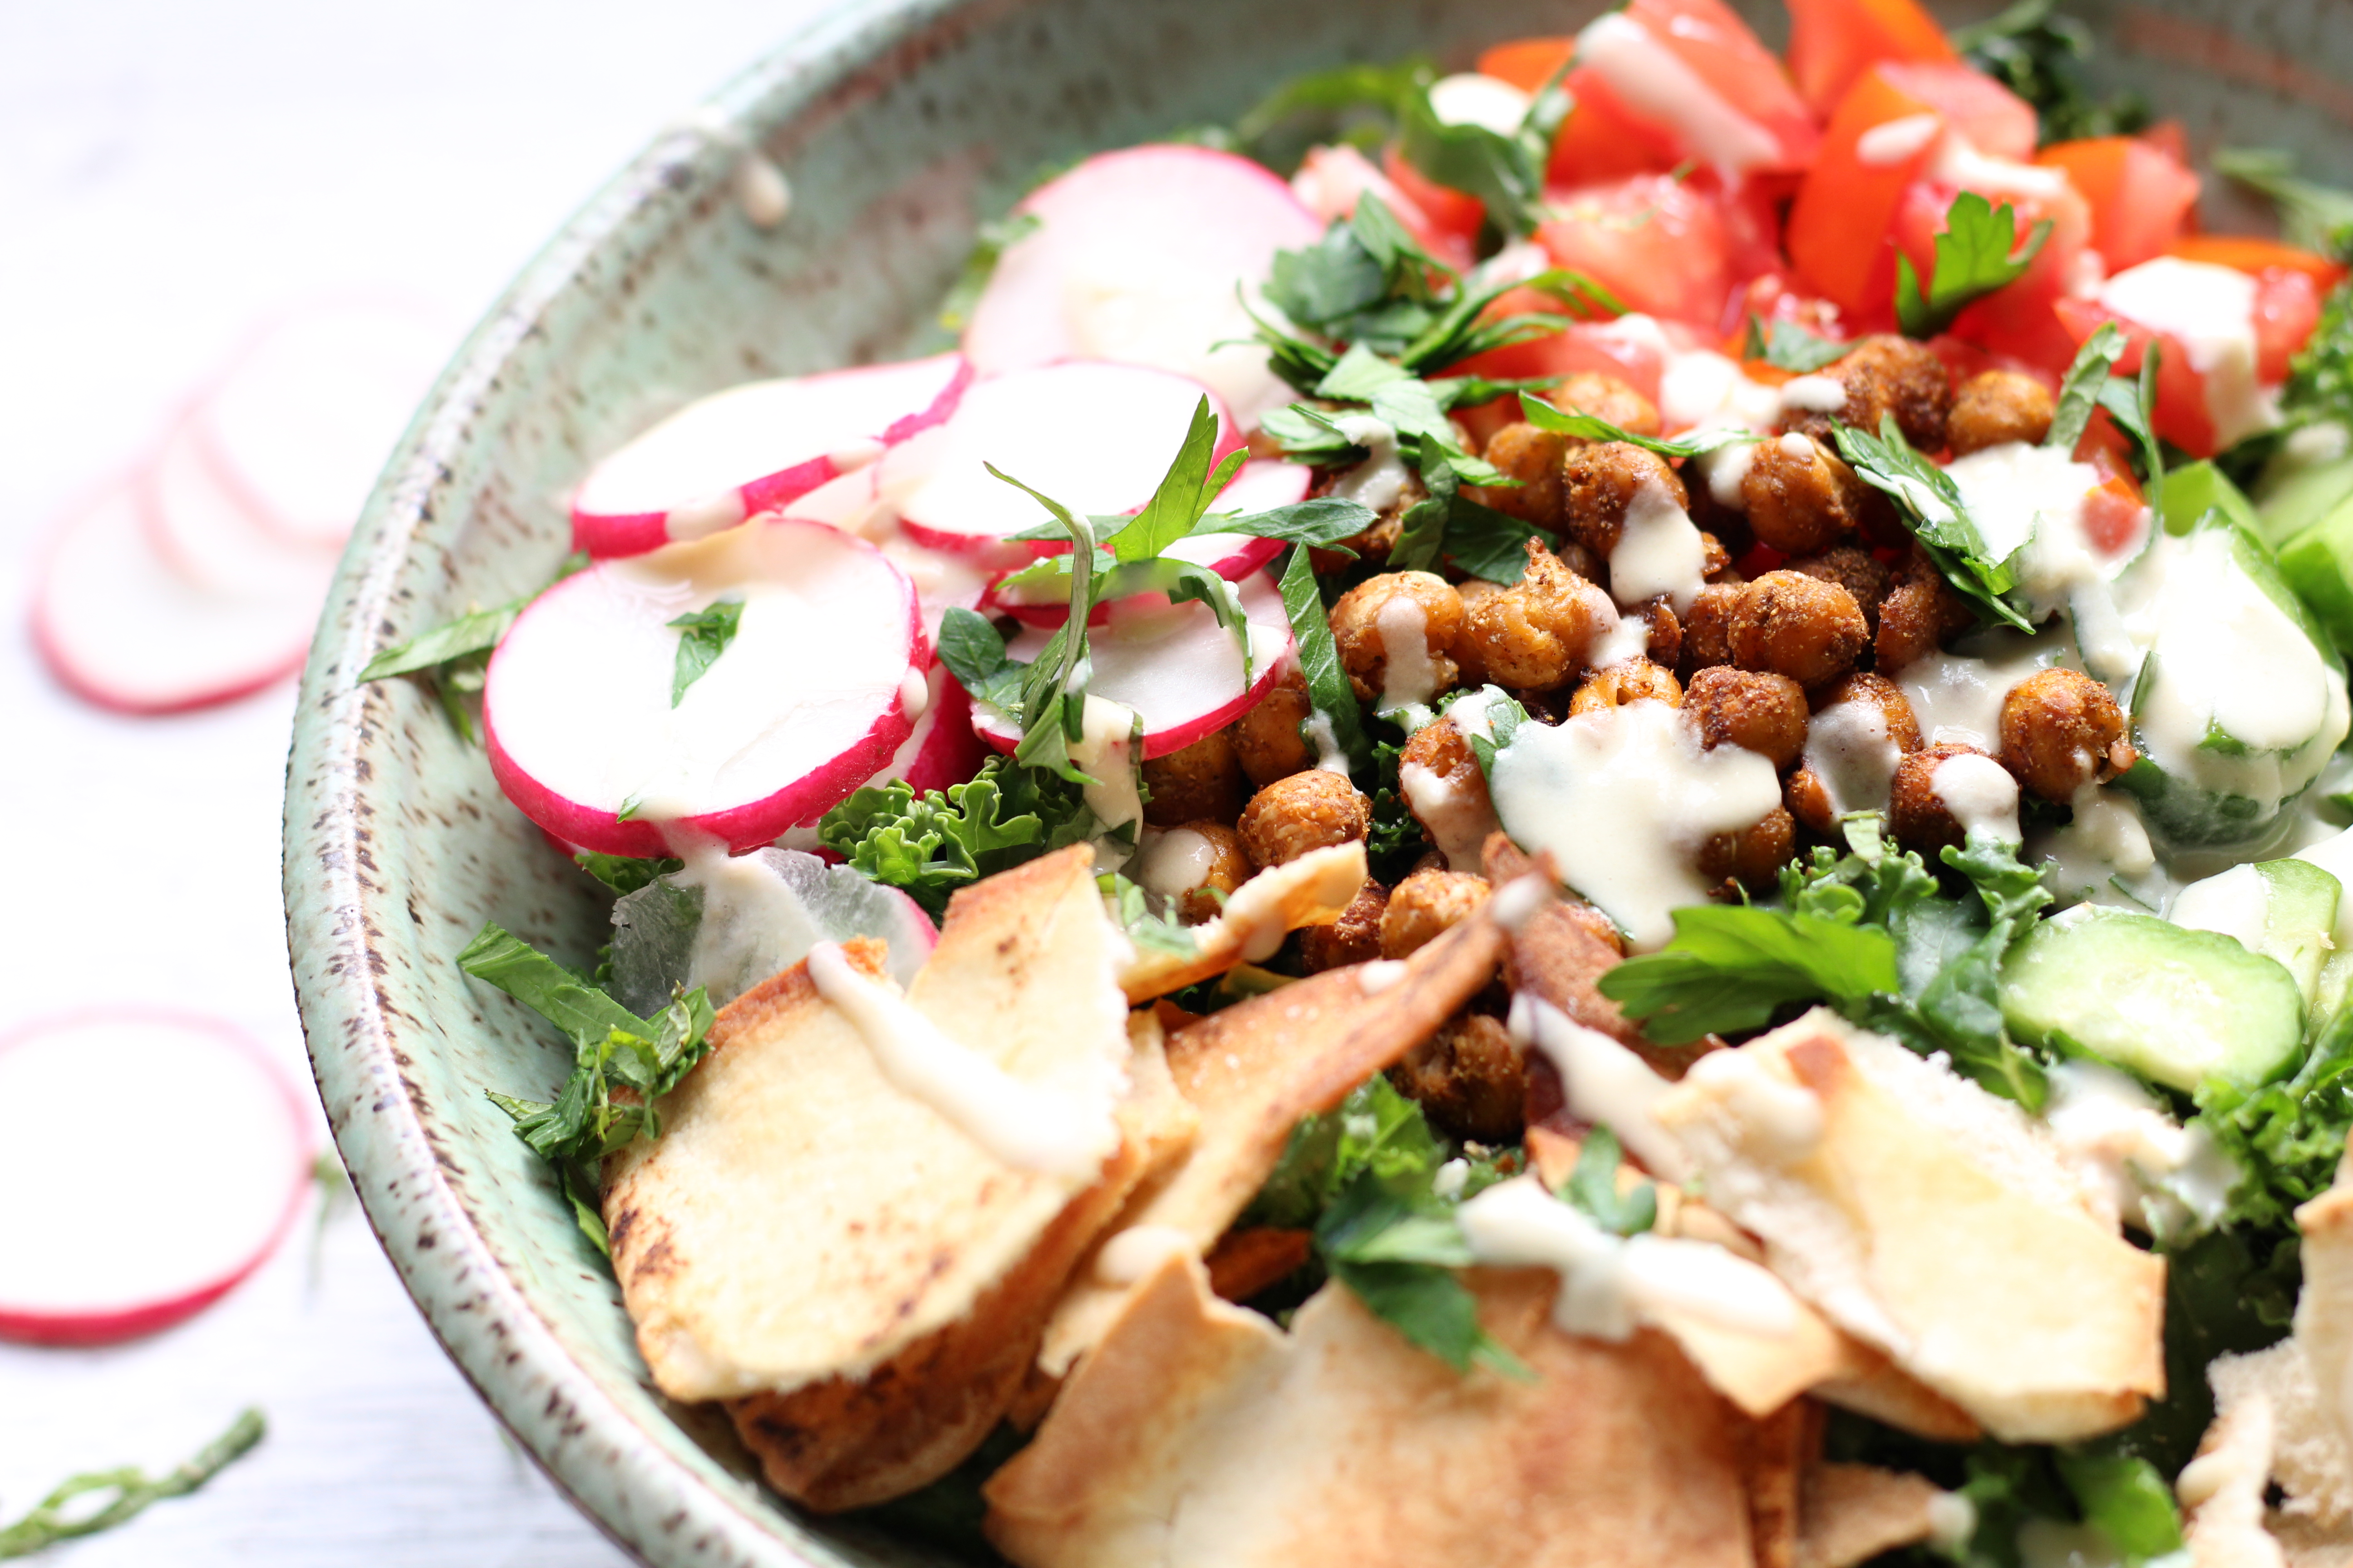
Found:
[[[668,623],[718,599],[744,602],[734,642],[673,708]],[[532,599],[492,654],[482,741],[506,797],[567,844],[744,851],[899,750],[927,656],[915,585],[866,541],[821,522],[729,529]]]

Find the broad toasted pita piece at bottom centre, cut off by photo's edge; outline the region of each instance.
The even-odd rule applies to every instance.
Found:
[[[1675,1345],[1560,1333],[1544,1269],[1464,1281],[1534,1382],[1339,1286],[1285,1335],[1172,1258],[984,1488],[988,1537],[1021,1568],[1751,1568],[1741,1418]]]

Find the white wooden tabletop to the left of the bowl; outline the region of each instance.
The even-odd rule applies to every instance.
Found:
[[[56,691],[21,607],[59,512],[278,306],[391,284],[471,320],[659,125],[821,7],[0,5],[0,1027],[169,1001],[308,1079],[278,910],[292,684],[179,719]],[[38,1201],[0,1194],[0,1246]],[[0,1519],[73,1472],[176,1465],[247,1403],[268,1441],[207,1490],[40,1561],[621,1563],[506,1443],[348,1201],[176,1331],[0,1347]]]

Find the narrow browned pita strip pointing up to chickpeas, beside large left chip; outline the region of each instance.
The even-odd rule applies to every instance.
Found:
[[[1169,1074],[1200,1114],[1200,1133],[1136,1192],[1106,1239],[1155,1225],[1207,1253],[1266,1185],[1292,1126],[1428,1039],[1487,985],[1501,957],[1504,933],[1480,912],[1405,959],[1402,976],[1374,994],[1362,966],[1327,969],[1172,1034]],[[1071,1371],[1132,1288],[1096,1279],[1092,1262],[1078,1269],[1045,1333],[1047,1375]]]

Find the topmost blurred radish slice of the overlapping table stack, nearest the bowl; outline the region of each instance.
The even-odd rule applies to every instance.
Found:
[[[198,437],[268,527],[339,545],[461,329],[421,303],[294,310],[228,367]]]

